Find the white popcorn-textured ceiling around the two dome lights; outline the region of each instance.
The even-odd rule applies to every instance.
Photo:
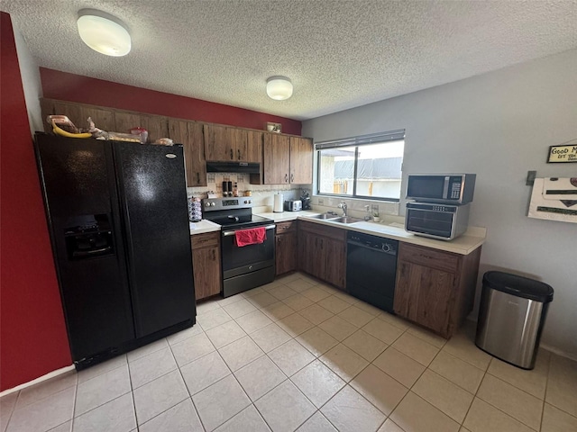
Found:
[[[78,10],[124,21],[109,58]],[[2,0],[39,66],[307,120],[577,48],[577,0]],[[265,92],[289,76],[288,101]],[[89,89],[88,89],[89,91]]]

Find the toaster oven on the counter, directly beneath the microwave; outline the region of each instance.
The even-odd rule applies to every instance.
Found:
[[[452,240],[467,230],[470,206],[407,202],[405,230],[417,236]]]

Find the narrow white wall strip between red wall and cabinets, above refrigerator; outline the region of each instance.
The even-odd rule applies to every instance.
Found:
[[[16,42],[16,52],[18,53],[18,63],[20,65],[20,75],[24,89],[24,99],[28,110],[28,121],[32,134],[36,130],[44,130],[42,125],[42,113],[39,98],[42,97],[42,85],[40,70],[32,53],[23,40],[20,31],[14,25],[14,41]]]

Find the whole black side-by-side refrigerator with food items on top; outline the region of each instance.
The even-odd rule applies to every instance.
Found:
[[[77,369],[194,325],[182,147],[35,138]]]

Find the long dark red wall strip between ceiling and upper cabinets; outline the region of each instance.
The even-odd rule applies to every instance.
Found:
[[[42,92],[44,97],[50,99],[91,103],[122,110],[148,112],[179,119],[230,124],[261,130],[264,130],[267,121],[273,121],[282,124],[284,133],[300,135],[300,121],[265,114],[264,112],[156,92],[132,85],[112,83],[45,67],[40,68],[40,74]]]

